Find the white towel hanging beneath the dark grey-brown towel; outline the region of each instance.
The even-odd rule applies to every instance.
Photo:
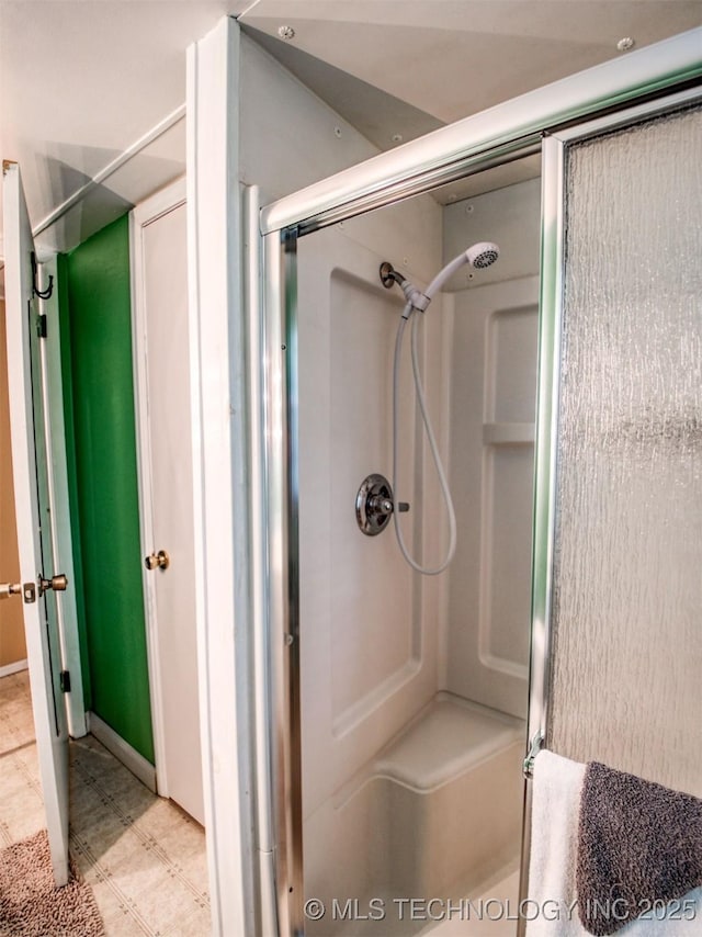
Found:
[[[526,937],[590,937],[577,908],[576,863],[580,793],[586,766],[542,750],[534,760]],[[655,896],[652,896],[652,899]],[[667,917],[654,908],[616,937],[702,935],[702,889],[672,903]]]

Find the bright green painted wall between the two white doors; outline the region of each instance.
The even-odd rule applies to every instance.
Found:
[[[58,273],[83,682],[92,711],[152,764],[127,216],[63,257]]]

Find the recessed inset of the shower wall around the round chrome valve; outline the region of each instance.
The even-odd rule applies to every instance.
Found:
[[[390,475],[388,375],[401,304],[397,294],[339,268],[329,287],[329,629],[332,726],[339,735],[371,700],[407,679],[421,648],[418,591],[392,528],[363,537],[353,511],[353,495],[371,470]],[[408,417],[400,438],[404,465],[411,465],[415,445]],[[411,474],[407,481],[405,493],[416,504]]]

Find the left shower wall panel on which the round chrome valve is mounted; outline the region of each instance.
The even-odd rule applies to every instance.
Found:
[[[403,308],[383,260],[421,289],[441,263],[441,211],[429,199],[298,241],[299,545],[304,814],[349,782],[437,692],[439,587],[403,561],[395,534],[364,535],[355,496],[392,476],[392,364]],[[405,266],[406,263],[406,266]],[[427,319],[429,393],[441,408],[441,301]],[[408,345],[408,342],[407,342]],[[406,349],[408,352],[408,349]],[[442,546],[427,523],[423,464],[404,357],[399,497],[414,551]],[[443,433],[445,439],[445,433]],[[433,490],[433,486],[431,486]],[[439,501],[437,501],[437,505]]]

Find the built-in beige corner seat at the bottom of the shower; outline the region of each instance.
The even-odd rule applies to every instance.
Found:
[[[308,895],[457,900],[517,868],[524,734],[522,720],[438,693],[307,819],[307,840],[324,840]]]

